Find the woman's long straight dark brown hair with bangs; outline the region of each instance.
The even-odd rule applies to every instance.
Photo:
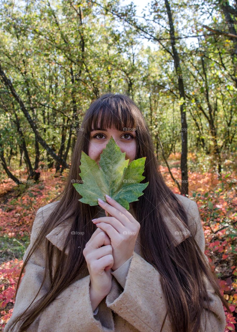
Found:
[[[60,204],[57,205],[56,210],[52,210],[47,220],[44,221],[44,227],[40,229],[22,266],[17,290],[21,275],[30,256],[38,248],[39,244],[45,240],[45,272],[41,287],[46,278],[49,278],[50,288],[37,302],[33,303],[34,299],[32,301],[34,305],[31,306],[31,303],[18,318],[18,320],[24,319],[19,332],[29,328],[39,313],[62,290],[78,280],[81,271],[87,267],[83,249],[97,228],[91,222],[91,219],[97,216],[96,207],[79,202],[78,200],[81,196],[72,186],[72,183],[75,180],[81,180],[79,176],[81,151],[88,154],[88,142],[92,124],[97,129],[98,120],[101,128],[110,128],[112,126],[117,130],[123,130],[122,128],[124,127],[136,128],[135,159],[146,157],[143,173],[145,179],[142,183],[149,181],[149,185],[143,191],[144,194],[139,197],[139,201],[131,203],[136,220],[141,225],[139,231],[141,252],[145,260],[160,273],[172,331],[198,332],[204,301],[209,301],[203,275],[209,280],[216,294],[230,312],[228,303],[220,293],[218,279],[212,271],[210,263],[206,261],[199,249],[194,236],[189,236],[177,246],[173,244],[174,238],[163,220],[160,212],[161,208],[167,209],[169,207],[188,228],[187,214],[176,195],[165,184],[159,169],[158,160],[154,155],[151,133],[140,110],[127,95],[113,93],[102,95],[93,101],[86,111],[81,128],[77,130],[77,140],[73,149],[65,188],[59,196],[50,202],[60,200]],[[148,215],[149,217],[147,217]],[[65,245],[63,250],[60,251],[50,241],[45,239],[45,235],[68,217],[72,217],[74,221],[68,234],[65,234]],[[72,230],[84,232],[84,235],[72,236]],[[65,254],[67,245],[69,245],[68,255]],[[54,272],[52,267],[53,249],[55,250],[56,259]]]

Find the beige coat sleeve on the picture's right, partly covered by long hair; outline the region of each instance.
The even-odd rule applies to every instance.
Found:
[[[198,226],[195,239],[204,253],[204,232],[198,205],[193,201],[191,201],[188,215]],[[207,291],[210,297],[211,311],[208,312],[206,308],[203,309],[199,332],[224,332],[226,323],[222,302],[215,295],[209,282],[207,282]],[[164,298],[165,294],[161,287],[159,272],[134,252],[123,291],[119,290],[116,282],[112,279],[112,289],[106,297],[106,304],[138,331],[158,332],[166,313]],[[209,313],[206,328],[205,313]],[[171,322],[168,315],[163,331],[171,331]]]

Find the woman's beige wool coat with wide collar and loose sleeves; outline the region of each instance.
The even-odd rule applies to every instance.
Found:
[[[195,224],[198,224],[195,239],[202,252],[204,252],[205,239],[198,206],[187,197],[181,195],[177,195],[177,197],[184,203],[191,229],[195,229],[193,227],[195,227]],[[32,228],[31,242],[23,260],[25,260],[37,236],[37,230],[43,226],[43,222],[50,210],[57,203],[48,204],[37,211]],[[130,209],[129,212],[133,214],[133,210]],[[180,226],[177,229],[174,221],[171,220],[170,213],[172,212],[164,212],[164,218],[174,235],[175,245],[178,245],[191,236],[191,233],[175,217],[176,222]],[[46,238],[62,250],[64,236],[69,227],[70,221],[67,220],[63,225],[55,227],[46,235]],[[68,254],[67,250],[66,254]],[[17,326],[19,325],[13,329],[11,329],[11,326],[16,317],[23,312],[24,308],[28,306],[39,290],[44,272],[44,263],[44,248],[40,246],[26,265],[26,272],[17,293],[13,315],[6,324],[4,332],[18,331]],[[27,329],[27,332],[159,332],[166,313],[165,295],[161,288],[159,272],[141,256],[139,234],[134,253],[129,261],[128,270],[125,268],[123,272],[126,274],[124,289],[115,278],[116,273],[113,273],[111,291],[100,302],[98,314],[93,315],[89,294],[90,275],[86,268],[81,278],[63,290],[38,316],[30,328]],[[121,282],[121,271],[118,279]],[[45,282],[45,286],[40,290],[36,300],[47,292],[48,288],[49,280]],[[206,328],[204,329],[204,314],[205,312],[207,313],[207,310],[203,310],[199,332],[223,332],[225,329],[225,314],[222,302],[213,293],[209,283],[207,289],[211,299],[211,311],[209,315],[207,314]],[[168,316],[162,331],[171,332]]]

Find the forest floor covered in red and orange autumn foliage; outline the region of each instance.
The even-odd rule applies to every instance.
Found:
[[[180,156],[179,156],[180,157]],[[173,176],[180,179],[179,160],[172,159]],[[199,207],[206,240],[205,254],[215,266],[222,294],[232,314],[226,312],[227,331],[236,331],[237,318],[237,175],[223,172],[189,171],[189,198]],[[168,168],[161,166],[162,175],[173,192],[179,194]],[[21,179],[26,173],[19,172]],[[55,169],[40,170],[39,183],[27,187],[10,179],[0,180],[0,331],[12,314],[14,295],[22,267],[22,258],[29,245],[31,226],[39,207],[63,189],[67,174]]]

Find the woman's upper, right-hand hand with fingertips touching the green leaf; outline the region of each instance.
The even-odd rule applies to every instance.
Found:
[[[109,204],[101,203],[99,200],[98,204],[110,216],[93,219],[93,222],[111,239],[114,257],[112,270],[115,271],[133,255],[140,224],[131,213],[108,195],[106,195],[106,200]]]

